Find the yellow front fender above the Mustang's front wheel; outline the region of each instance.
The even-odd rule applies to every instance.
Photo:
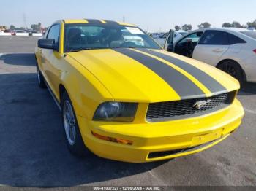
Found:
[[[104,101],[113,101],[113,96],[99,80],[80,63],[67,56],[60,81],[75,109],[75,114],[92,119],[97,106]]]

